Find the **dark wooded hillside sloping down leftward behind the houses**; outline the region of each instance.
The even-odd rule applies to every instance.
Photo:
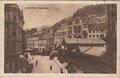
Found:
[[[78,9],[71,17],[63,18],[56,24],[52,26],[52,28],[56,31],[61,24],[68,22],[70,20],[73,20],[76,15],[80,16],[80,18],[84,19],[86,15],[97,15],[97,16],[103,16],[106,14],[106,5],[105,4],[97,4],[97,5],[88,5],[86,7],[83,7],[81,9]]]

